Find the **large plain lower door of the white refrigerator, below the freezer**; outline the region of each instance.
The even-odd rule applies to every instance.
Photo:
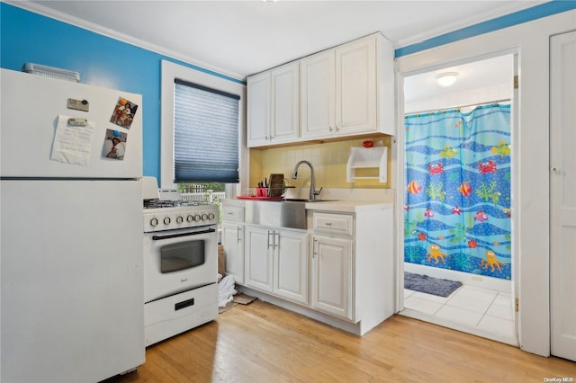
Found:
[[[100,381],[144,363],[141,183],[0,190],[0,381]]]

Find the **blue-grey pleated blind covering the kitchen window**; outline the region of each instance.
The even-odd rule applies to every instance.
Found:
[[[238,100],[175,79],[175,183],[238,183]]]

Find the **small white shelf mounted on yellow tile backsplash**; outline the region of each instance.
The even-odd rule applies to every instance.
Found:
[[[356,176],[358,169],[378,169],[378,175]],[[347,183],[356,180],[388,182],[388,147],[350,147],[347,163]]]

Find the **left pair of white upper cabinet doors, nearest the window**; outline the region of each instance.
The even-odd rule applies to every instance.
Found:
[[[299,71],[293,62],[247,78],[248,147],[298,140]]]

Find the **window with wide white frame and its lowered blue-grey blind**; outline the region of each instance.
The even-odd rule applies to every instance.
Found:
[[[245,99],[243,81],[162,61],[160,187],[225,183],[226,198],[237,195],[247,181]]]

